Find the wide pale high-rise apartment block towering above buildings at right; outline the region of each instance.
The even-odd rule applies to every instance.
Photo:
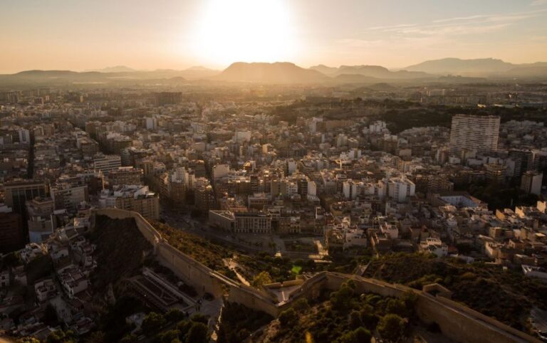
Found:
[[[499,117],[495,115],[454,115],[450,128],[450,154],[495,152],[498,147]]]

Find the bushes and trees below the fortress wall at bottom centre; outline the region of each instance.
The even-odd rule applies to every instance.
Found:
[[[373,332],[385,342],[410,337],[415,295],[402,299],[355,292],[349,280],[335,292],[323,292],[313,304],[297,300],[253,342],[370,342]]]

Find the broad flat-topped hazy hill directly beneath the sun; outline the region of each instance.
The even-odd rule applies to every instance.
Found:
[[[232,63],[214,80],[250,83],[321,83],[328,77],[317,70],[298,67],[293,63]]]

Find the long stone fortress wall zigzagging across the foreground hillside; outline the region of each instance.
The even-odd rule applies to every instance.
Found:
[[[177,248],[170,246],[162,238],[161,233],[156,231],[139,213],[121,209],[98,209],[94,213],[113,219],[135,218],[135,223],[142,236],[154,247],[157,260],[170,268],[185,283],[192,285],[197,292],[201,294],[209,292],[215,297],[221,297],[224,295],[222,285],[226,285],[230,290],[228,297],[230,302],[238,302],[254,310],[266,312],[273,317],[291,307],[294,300],[301,297],[306,297],[309,300],[316,299],[321,294],[321,290],[338,290],[342,283],[353,280],[356,285],[356,292],[372,292],[390,297],[402,297],[407,292],[414,292],[417,295],[416,311],[420,320],[427,324],[436,322],[442,333],[456,342],[541,343],[538,339],[524,332],[482,315],[446,297],[433,296],[410,287],[362,278],[357,275],[331,272],[318,273],[304,281],[301,287],[291,294],[289,300],[280,305],[276,298],[269,295],[269,293],[226,278],[224,275],[207,268],[197,260],[180,252]]]

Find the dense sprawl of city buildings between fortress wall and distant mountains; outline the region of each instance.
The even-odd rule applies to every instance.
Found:
[[[319,270],[368,275],[372,261],[394,253],[545,281],[547,127],[513,118],[544,116],[547,93],[530,85],[515,101],[501,95],[505,87],[480,95],[467,86],[276,87],[280,94],[268,95],[262,85],[1,93],[1,327],[38,339],[60,324],[78,337],[98,329],[95,307],[108,300],[95,274],[115,263],[98,255],[105,242],[90,233],[104,223],[100,209],[134,211],[165,236],[174,236],[170,226],[225,246],[234,255],[214,267],[259,288]],[[398,117],[427,111],[457,114],[402,130]],[[292,261],[293,270],[254,270],[246,265],[254,255]],[[222,305],[184,292],[194,280],[149,263],[108,287],[123,283],[143,307],[205,313],[214,329]],[[204,310],[195,305],[202,301]],[[541,302],[531,306],[540,318]],[[141,332],[144,313],[130,314],[127,334]],[[528,329],[545,323],[537,325]]]

